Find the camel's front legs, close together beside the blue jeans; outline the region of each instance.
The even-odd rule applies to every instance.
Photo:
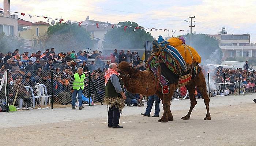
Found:
[[[169,115],[171,114],[170,112],[170,105],[171,105],[171,99],[174,93],[174,90],[176,89],[175,84],[170,84],[170,93],[163,95],[162,103],[163,103],[163,116],[161,119],[158,120],[158,122],[168,122]],[[168,115],[169,114],[169,115]],[[172,116],[172,115],[170,115]],[[171,118],[173,119],[173,118]],[[170,120],[171,120],[170,119]]]

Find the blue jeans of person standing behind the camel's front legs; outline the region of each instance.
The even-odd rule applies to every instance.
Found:
[[[148,97],[147,108],[146,108],[145,114],[150,115],[150,112],[152,110],[154,101],[155,101],[155,115],[159,116],[159,112],[160,112],[160,108],[159,108],[160,99],[159,99],[159,97],[157,95],[151,95],[151,96]]]

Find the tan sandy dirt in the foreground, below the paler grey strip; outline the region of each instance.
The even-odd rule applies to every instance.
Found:
[[[250,101],[252,101],[251,99]],[[228,101],[229,99],[226,100]],[[223,100],[223,102],[226,100]],[[199,102],[203,102],[203,100],[199,99]],[[189,100],[186,103],[189,104]],[[125,108],[136,110],[138,107]],[[143,107],[140,111],[144,111],[145,108]],[[120,125],[124,126],[122,129],[108,128],[106,116],[79,120],[62,120],[54,123],[45,122],[45,124],[37,123],[27,126],[19,126],[19,122],[16,121],[16,127],[0,127],[1,145],[256,145],[256,104],[253,101],[250,103],[237,102],[236,104],[218,107],[212,106],[210,107],[212,120],[203,120],[206,115],[206,110],[203,106],[193,110],[190,120],[181,120],[181,117],[185,116],[187,111],[173,110],[174,120],[168,123],[158,123],[157,120],[160,117],[144,117],[140,113],[121,115]]]

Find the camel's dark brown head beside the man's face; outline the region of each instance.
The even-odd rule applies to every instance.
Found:
[[[134,77],[137,72],[139,72],[138,69],[132,68],[128,62],[121,62],[118,65],[118,72],[120,73],[120,76],[123,77]]]

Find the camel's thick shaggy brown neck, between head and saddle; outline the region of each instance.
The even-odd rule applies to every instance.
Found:
[[[142,95],[153,95],[156,91],[156,78],[151,71],[138,72],[136,75],[127,75],[123,77],[125,88],[132,93]]]

